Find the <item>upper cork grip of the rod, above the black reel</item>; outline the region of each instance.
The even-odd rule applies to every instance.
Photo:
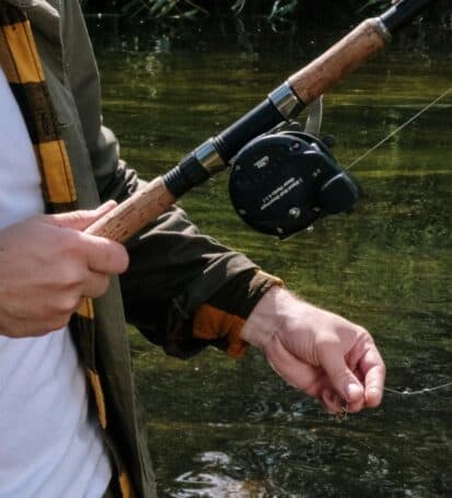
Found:
[[[289,78],[298,97],[309,105],[345,74],[385,45],[390,35],[375,19],[368,19],[336,45]]]

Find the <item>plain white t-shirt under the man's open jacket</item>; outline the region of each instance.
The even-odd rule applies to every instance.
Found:
[[[1,229],[44,212],[33,147],[1,68],[0,143]],[[98,498],[111,475],[68,327],[0,335],[0,498]]]

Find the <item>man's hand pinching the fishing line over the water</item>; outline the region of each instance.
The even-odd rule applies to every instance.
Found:
[[[370,334],[347,320],[274,287],[258,302],[241,337],[259,347],[289,384],[338,414],[375,407],[385,367]]]

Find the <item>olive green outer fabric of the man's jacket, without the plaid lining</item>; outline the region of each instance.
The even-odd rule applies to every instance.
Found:
[[[30,19],[71,162],[79,207],[93,208],[108,198],[123,200],[140,187],[140,181],[119,159],[115,136],[102,125],[98,72],[79,1],[3,1],[21,8]],[[126,466],[136,495],[150,498],[155,495],[154,478],[137,413],[126,317],[170,354],[188,356],[200,347],[199,340],[185,338],[181,347],[171,340],[172,335],[189,329],[187,324],[198,306],[241,276],[244,297],[250,297],[247,286],[255,265],[200,235],[177,208],[130,241],[128,250],[128,271],[95,301],[94,344],[81,341],[79,347],[81,356],[90,356],[101,372],[108,417],[105,437],[114,440],[112,447]],[[265,291],[265,281],[257,285],[259,291]],[[248,300],[247,311],[255,301]]]

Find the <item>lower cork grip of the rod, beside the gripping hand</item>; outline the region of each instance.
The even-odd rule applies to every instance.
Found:
[[[85,230],[91,235],[125,242],[176,201],[161,176],[107,212]]]

